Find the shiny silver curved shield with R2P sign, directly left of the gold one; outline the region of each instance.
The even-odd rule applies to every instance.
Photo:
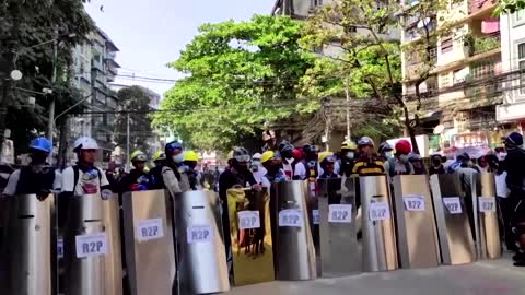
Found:
[[[175,197],[182,294],[230,290],[220,212],[220,200],[213,191],[195,190]]]

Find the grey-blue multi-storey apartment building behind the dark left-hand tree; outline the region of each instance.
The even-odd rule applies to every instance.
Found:
[[[71,138],[94,138],[102,151],[103,162],[108,162],[113,144],[115,111],[118,99],[116,92],[109,87],[115,81],[120,66],[115,61],[118,47],[101,28],[86,36],[83,44],[73,49],[74,85],[85,98],[85,113],[71,120]]]

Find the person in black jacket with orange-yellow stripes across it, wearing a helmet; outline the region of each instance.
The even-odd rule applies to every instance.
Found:
[[[369,137],[358,141],[359,160],[353,165],[352,175],[378,176],[385,175],[385,162],[374,152],[374,142]]]

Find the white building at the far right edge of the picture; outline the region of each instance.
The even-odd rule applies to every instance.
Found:
[[[512,74],[504,80],[505,95],[497,106],[497,119],[524,129],[525,81],[515,72],[525,69],[525,10],[501,15],[501,57],[503,72]]]

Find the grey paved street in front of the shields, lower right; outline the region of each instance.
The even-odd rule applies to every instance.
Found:
[[[509,259],[468,266],[364,273],[311,282],[272,282],[234,288],[230,295],[518,295],[525,269]]]

